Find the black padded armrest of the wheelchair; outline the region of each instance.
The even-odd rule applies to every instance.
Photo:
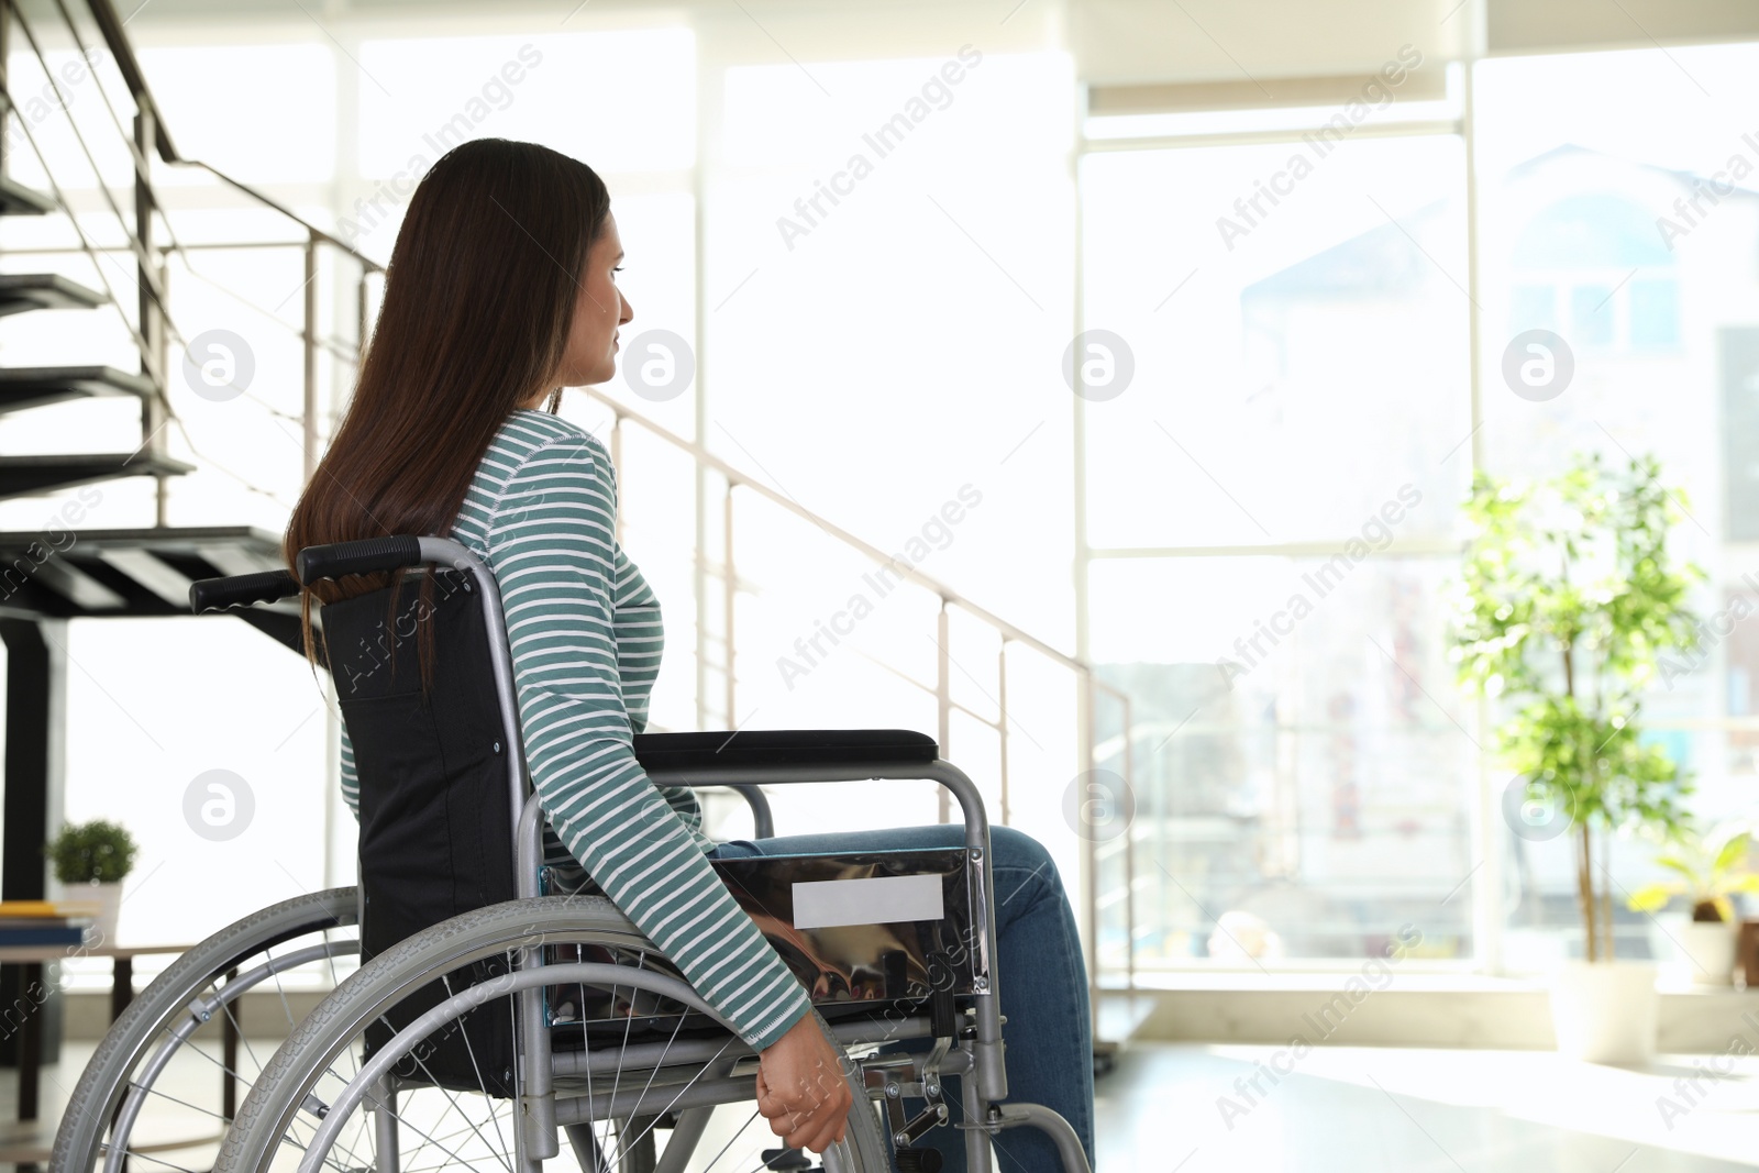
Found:
[[[915,730],[695,730],[637,733],[644,770],[707,770],[765,765],[867,765],[934,761],[941,747]]]

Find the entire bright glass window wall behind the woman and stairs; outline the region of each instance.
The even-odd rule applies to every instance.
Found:
[[[1444,98],[1082,127],[1077,58],[1029,37],[1027,16],[974,46],[948,18],[945,47],[913,33],[872,58],[853,33],[783,33],[781,49],[744,12],[644,28],[589,7],[565,30],[484,18],[482,35],[324,18],[334,39],[299,25],[201,46],[150,19],[130,28],[188,155],[380,260],[413,181],[464,137],[589,162],[630,250],[624,362],[653,353],[649,331],[695,362],[684,392],[619,375],[610,397],[874,545],[915,542],[925,573],[1057,649],[1085,631],[1133,703],[1128,744],[1110,695],[1092,723],[1103,765],[1128,751],[1135,777],[1129,835],[1092,844],[1108,973],[1349,965],[1405,927],[1456,967],[1530,971],[1578,951],[1567,842],[1502,825],[1509,779],[1481,753],[1497,714],[1453,682],[1458,508],[1476,470],[1657,452],[1690,503],[1680,552],[1710,572],[1699,610],[1759,603],[1759,46],[1485,62],[1471,120],[1451,65]],[[216,76],[248,98],[213,102]],[[165,192],[190,239],[260,234],[193,188]],[[206,450],[274,484],[204,468],[172,489],[172,521],[274,529],[297,491],[304,274],[297,251],[202,257],[208,271],[171,278],[179,331],[241,334],[271,410],[246,419],[193,396],[179,410]],[[332,276],[320,315],[347,339],[352,302]],[[25,317],[0,327],[19,361],[60,361],[83,329]],[[1511,341],[1536,329],[1569,350],[1571,382],[1550,399],[1502,376]],[[107,361],[127,357],[121,339]],[[325,401],[348,375],[324,371]],[[570,412],[605,427],[605,412]],[[5,427],[11,443],[58,443],[47,413]],[[969,614],[941,649],[939,600],[913,589],[823,670],[790,675],[797,642],[871,566],[785,508],[762,512],[753,489],[698,480],[633,426],[621,443],[624,543],[667,614],[654,728],[932,730],[945,651],[948,756],[992,814],[1006,777],[1008,820],[1082,883],[1066,665],[1004,647]],[[135,508],[135,489],[106,494]],[[960,521],[934,522],[959,501]],[[37,524],[35,505],[14,514]],[[1089,556],[1071,575],[1077,533]],[[723,572],[732,607],[702,586]],[[139,830],[158,871],[137,881],[153,897],[130,904],[132,932],[167,939],[347,881],[352,853],[306,665],[243,624],[174,626],[79,624],[69,645],[67,812]],[[213,665],[243,672],[246,658],[259,688],[229,691]],[[1650,703],[1650,737],[1690,767],[1706,818],[1752,793],[1755,689],[1747,619]],[[232,707],[215,707],[220,693]],[[176,802],[218,767],[255,788],[262,827],[292,828],[285,851],[250,837],[192,849]],[[860,818],[934,818],[927,788],[892,793]],[[855,825],[839,804],[802,797],[790,823]],[[215,895],[216,872],[257,886]],[[1648,874],[1646,851],[1620,844],[1618,883]],[[1666,927],[1620,914],[1620,951],[1666,957]]]

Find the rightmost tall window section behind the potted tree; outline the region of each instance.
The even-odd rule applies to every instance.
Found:
[[[1485,466],[1525,477],[1576,450],[1652,452],[1683,489],[1690,515],[1675,547],[1708,572],[1694,603],[1713,624],[1697,652],[1669,658],[1646,712],[1648,737],[1694,776],[1706,821],[1752,814],[1759,793],[1759,647],[1750,619],[1719,619],[1747,614],[1759,568],[1755,97],[1750,44],[1479,69]],[[1574,366],[1560,394],[1537,401],[1500,376],[1511,339],[1534,327],[1553,331]],[[1567,841],[1506,837],[1500,858],[1502,962],[1523,971],[1580,953]],[[1615,841],[1615,895],[1652,872],[1648,846]],[[1620,955],[1673,958],[1683,913],[1620,904]]]

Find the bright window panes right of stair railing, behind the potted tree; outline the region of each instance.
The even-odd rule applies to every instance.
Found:
[[[1177,144],[1089,130],[1082,325],[1110,331],[1084,404],[1089,651],[1138,723],[1129,848],[1099,849],[1108,964],[1126,939],[1138,976],[1325,964],[1402,925],[1492,971],[1580,955],[1571,842],[1497,816],[1500,714],[1453,682],[1458,505],[1474,468],[1653,452],[1690,508],[1678,554],[1710,573],[1699,614],[1748,612],[1755,67],[1755,46],[1478,65],[1476,266],[1463,139],[1372,137],[1397,104],[1323,151],[1310,111],[1274,144],[1263,118],[1238,139],[1187,118]],[[1550,397],[1502,375],[1536,329],[1569,364]],[[1736,623],[1648,702],[1703,820],[1754,812],[1755,668]],[[1620,888],[1652,874],[1617,842]],[[1673,958],[1669,920],[1620,907],[1620,953]]]

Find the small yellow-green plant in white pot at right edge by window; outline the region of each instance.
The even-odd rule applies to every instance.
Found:
[[[1668,932],[1685,953],[1697,985],[1734,983],[1734,897],[1741,892],[1759,892],[1759,874],[1747,867],[1747,848],[1752,834],[1738,830],[1697,835],[1689,828],[1669,835],[1673,851],[1657,855],[1655,862],[1678,874],[1631,893],[1627,904],[1639,913],[1655,913],[1675,897],[1685,897],[1692,906],[1692,920]]]

